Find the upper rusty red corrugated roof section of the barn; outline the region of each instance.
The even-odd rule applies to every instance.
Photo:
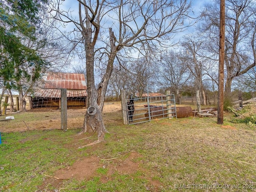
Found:
[[[44,89],[87,89],[84,74],[48,73]]]

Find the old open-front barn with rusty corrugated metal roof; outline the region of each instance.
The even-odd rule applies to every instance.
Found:
[[[31,108],[60,106],[60,89],[67,89],[68,106],[87,105],[87,86],[84,74],[46,73],[30,96]]]

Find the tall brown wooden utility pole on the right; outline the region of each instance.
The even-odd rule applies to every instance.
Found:
[[[223,124],[224,109],[225,0],[220,0],[220,53],[218,85],[218,124]]]

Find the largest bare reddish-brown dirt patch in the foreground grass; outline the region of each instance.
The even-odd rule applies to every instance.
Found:
[[[99,157],[90,156],[83,160],[75,162],[72,166],[62,168],[57,170],[53,176],[46,178],[41,186],[38,186],[39,190],[45,190],[48,186],[53,186],[55,188],[61,188],[63,181],[75,178],[77,180],[90,180],[94,176],[99,174],[96,172],[98,168],[107,168],[108,172],[106,175],[102,175],[100,181],[106,183],[108,181],[114,180],[112,174],[118,172],[119,174],[132,174],[137,170],[145,171],[140,168],[142,161],[138,160],[142,155],[138,152],[131,152],[128,158],[125,160],[120,160],[118,158],[113,159],[111,164],[108,164],[108,160],[101,161]],[[146,171],[145,171],[146,172]],[[147,175],[147,176],[146,176]],[[159,187],[162,185],[159,181],[153,180],[150,174],[145,174],[142,176],[146,178],[153,191],[158,191]]]

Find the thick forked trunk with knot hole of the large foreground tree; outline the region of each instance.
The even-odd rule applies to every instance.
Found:
[[[84,117],[84,125],[82,131],[84,132],[95,132],[98,133],[98,142],[104,140],[104,133],[108,133],[106,127],[103,123],[102,110],[104,104],[104,97],[106,95],[108,82],[113,71],[114,58],[116,57],[116,46],[114,46],[114,34],[112,29],[109,29],[110,32],[110,43],[111,51],[108,58],[108,65],[106,67],[106,73],[102,77],[102,81],[96,89],[94,84],[94,47],[85,46],[86,49],[86,77],[88,82],[88,110]]]

